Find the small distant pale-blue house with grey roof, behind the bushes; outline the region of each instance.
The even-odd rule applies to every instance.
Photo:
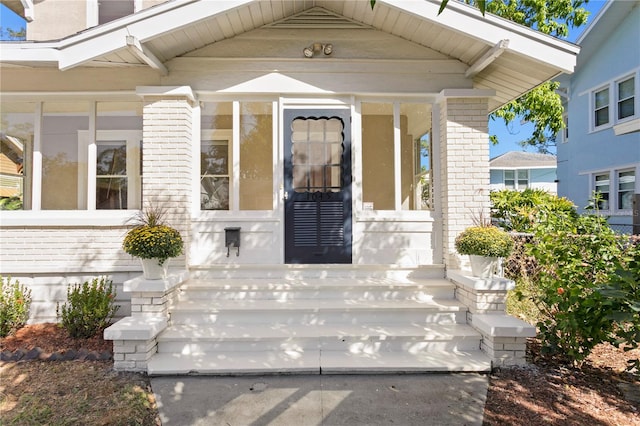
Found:
[[[537,152],[510,151],[489,161],[490,189],[527,188],[557,193],[556,156]]]

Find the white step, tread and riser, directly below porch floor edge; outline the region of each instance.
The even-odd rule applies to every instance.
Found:
[[[334,278],[192,279],[180,287],[179,300],[431,300],[454,298],[445,279]]]

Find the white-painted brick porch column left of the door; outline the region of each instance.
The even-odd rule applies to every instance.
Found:
[[[188,261],[191,240],[193,144],[200,132],[193,128],[196,100],[186,86],[145,86],[137,91],[144,100],[143,203],[165,208],[167,221],[180,231],[185,255],[172,264],[181,267]]]

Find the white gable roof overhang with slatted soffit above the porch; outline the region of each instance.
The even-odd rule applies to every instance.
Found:
[[[465,64],[477,89],[495,90],[496,109],[560,73],[571,73],[579,47],[506,19],[440,0],[369,1],[172,0],[134,15],[52,42],[2,43],[1,66],[150,66],[161,74],[166,63],[204,46],[275,25],[314,7],[409,40]],[[312,19],[299,23],[311,25]],[[327,22],[313,25],[331,28]]]

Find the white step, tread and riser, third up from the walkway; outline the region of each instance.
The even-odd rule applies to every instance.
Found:
[[[172,324],[455,324],[467,308],[431,300],[185,300],[171,309]]]

